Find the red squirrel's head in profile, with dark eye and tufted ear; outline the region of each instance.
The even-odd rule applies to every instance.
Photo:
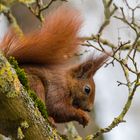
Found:
[[[69,71],[69,90],[72,97],[72,104],[84,111],[91,111],[95,96],[95,83],[93,76],[96,71],[105,63],[108,55],[101,54],[97,57],[90,57],[87,61],[79,64]]]

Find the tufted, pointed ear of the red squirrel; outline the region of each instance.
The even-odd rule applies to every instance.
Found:
[[[108,55],[101,54],[96,57],[90,57],[87,61],[72,68],[72,76],[76,78],[89,78],[107,61]]]

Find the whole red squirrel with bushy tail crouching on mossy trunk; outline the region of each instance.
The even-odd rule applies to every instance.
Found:
[[[22,37],[9,31],[0,49],[25,69],[31,88],[55,122],[78,121],[86,126],[95,96],[93,76],[108,56],[68,65],[79,49],[81,25],[79,12],[62,6],[47,16],[40,30]]]

